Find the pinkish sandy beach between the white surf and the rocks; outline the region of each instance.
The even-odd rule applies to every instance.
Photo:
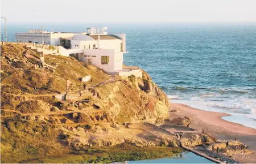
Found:
[[[180,112],[170,112],[170,120],[178,116],[189,116],[191,118],[191,127],[197,130],[203,130],[216,136],[220,140],[234,140],[235,137],[249,145],[249,149],[254,150],[253,154],[236,155],[234,159],[242,163],[256,163],[256,130],[242,126],[241,124],[228,122],[221,119],[222,116],[228,116],[225,113],[216,113],[212,111],[203,111],[183,105],[180,103],[171,103],[171,110],[178,110]]]

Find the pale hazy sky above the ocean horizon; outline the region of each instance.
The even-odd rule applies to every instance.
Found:
[[[9,22],[256,22],[256,0],[1,0],[1,16]]]

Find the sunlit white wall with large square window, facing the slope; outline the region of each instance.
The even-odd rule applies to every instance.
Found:
[[[87,55],[87,57],[85,57]],[[96,57],[88,57],[88,55]],[[101,56],[109,56],[109,64],[101,64]],[[88,63],[88,59],[92,59],[92,64],[102,68],[107,72],[115,72],[115,62],[114,62],[114,50],[106,49],[94,49],[94,50],[83,50],[82,54],[79,54],[79,61]]]

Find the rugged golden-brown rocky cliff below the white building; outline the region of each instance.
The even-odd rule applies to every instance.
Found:
[[[84,89],[81,79],[89,75],[92,84],[86,82]],[[67,96],[76,100],[57,99],[67,79]],[[163,123],[168,105],[166,94],[144,71],[142,79],[110,76],[72,57],[45,55],[41,62],[26,47],[1,46],[1,162],[63,156],[77,148],[74,143],[86,140],[90,146],[92,134],[111,137],[120,129],[124,135],[134,132],[119,136],[130,141],[141,131],[130,131],[129,125]]]

